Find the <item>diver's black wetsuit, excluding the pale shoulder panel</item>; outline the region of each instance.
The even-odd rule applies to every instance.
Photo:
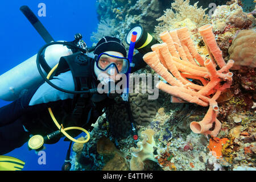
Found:
[[[93,60],[90,61],[93,63]],[[135,63],[135,67],[131,68],[131,73],[146,66],[140,53],[134,55],[133,62]],[[90,69],[93,69],[93,64]],[[95,75],[91,76],[91,82],[94,85],[98,84]],[[102,110],[111,102],[114,102],[112,99],[106,97],[106,94],[103,94],[105,96],[101,96],[102,99],[100,101],[94,102],[91,98],[98,96],[90,95],[85,100],[82,115],[80,117],[74,117],[73,110],[77,104],[77,100],[73,98],[29,105],[31,98],[40,86],[28,90],[18,100],[0,108],[0,155],[23,146],[31,134],[45,136],[56,131],[57,128],[49,115],[48,107],[51,107],[57,121],[60,124],[62,123],[64,127],[80,126],[86,130],[91,130],[92,123],[96,122],[98,117],[103,114]],[[88,88],[92,89],[92,85],[88,85]],[[71,131],[69,133],[72,137],[76,137],[81,132]],[[51,140],[49,143],[56,143],[59,139]]]

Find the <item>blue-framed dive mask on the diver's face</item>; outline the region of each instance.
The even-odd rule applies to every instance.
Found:
[[[119,57],[110,55],[108,53],[101,53],[96,60],[97,68],[109,75],[117,73],[127,73],[130,67],[130,61],[126,57]]]

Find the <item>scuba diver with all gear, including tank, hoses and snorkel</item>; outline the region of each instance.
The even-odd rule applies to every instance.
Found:
[[[146,66],[143,55],[158,41],[142,26],[135,26],[126,36],[128,56],[121,40],[112,36],[105,36],[93,48],[86,46],[81,34],[76,34],[72,42],[55,42],[29,7],[22,6],[20,10],[47,44],[37,55],[0,76],[0,99],[13,101],[0,108],[0,170],[24,166],[19,159],[1,155],[26,142],[30,150],[40,151],[44,143],[56,143],[61,137],[71,141],[62,168],[69,170],[72,142],[88,142],[92,123],[106,107],[115,104],[115,85],[122,75],[129,79],[129,73]],[[135,55],[134,48],[138,50]],[[100,84],[108,92],[99,92]],[[122,98],[131,134],[137,140],[128,96],[126,85]],[[82,131],[86,133],[85,140],[75,139]]]

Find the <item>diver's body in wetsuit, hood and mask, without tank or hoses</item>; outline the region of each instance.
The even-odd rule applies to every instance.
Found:
[[[105,36],[97,43],[93,53],[94,59],[88,59],[81,51],[61,57],[55,76],[51,78],[52,84],[71,91],[93,90],[104,80],[119,80],[116,79],[118,75],[129,70],[125,46],[118,38]],[[135,67],[131,68],[131,73],[146,66],[142,57],[141,53],[133,56]],[[108,85],[108,82],[104,84]],[[108,93],[65,93],[47,82],[31,88],[18,100],[0,108],[0,155],[21,147],[30,135],[54,133],[56,126],[48,113],[49,107],[61,125],[90,130],[92,123],[103,114],[102,110],[112,102]],[[72,137],[80,133],[69,131]],[[55,137],[46,143],[56,143],[59,139]]]

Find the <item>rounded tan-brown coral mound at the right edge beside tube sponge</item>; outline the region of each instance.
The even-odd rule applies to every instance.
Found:
[[[241,66],[256,66],[256,32],[254,30],[242,30],[233,40],[229,48],[230,59],[234,60],[231,69],[240,69]]]

